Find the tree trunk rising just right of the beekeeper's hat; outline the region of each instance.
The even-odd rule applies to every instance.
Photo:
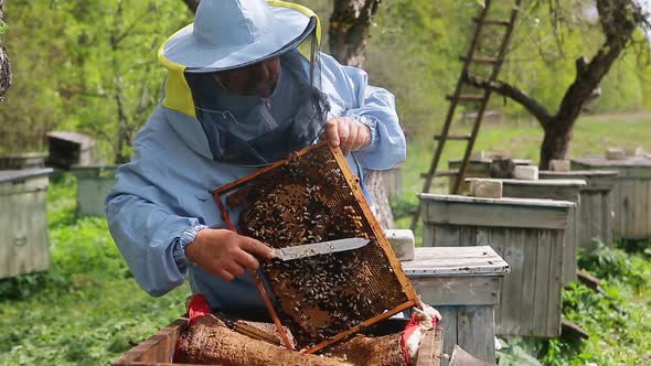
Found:
[[[371,20],[380,0],[334,0],[330,17],[330,53],[344,65],[362,67]]]

